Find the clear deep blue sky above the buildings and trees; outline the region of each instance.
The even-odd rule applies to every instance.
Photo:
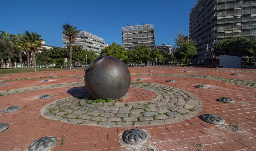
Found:
[[[1,0],[0,30],[35,31],[45,44],[62,47],[62,24],[88,31],[105,43],[122,45],[121,27],[155,24],[155,45],[188,35],[188,14],[196,0]]]

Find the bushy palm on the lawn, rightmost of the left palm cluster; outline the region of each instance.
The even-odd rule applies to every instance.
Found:
[[[33,58],[33,63],[34,63],[34,68],[35,68],[35,72],[36,72],[36,63],[35,63],[35,52],[40,50],[41,48],[41,41],[43,39],[41,39],[41,35],[37,34],[37,32],[28,32],[25,31],[25,47],[29,48],[31,53],[32,53],[32,58]]]

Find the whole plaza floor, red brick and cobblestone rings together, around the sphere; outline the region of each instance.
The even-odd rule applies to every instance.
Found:
[[[88,103],[93,99],[83,70],[0,74],[0,123],[9,124],[0,133],[0,150],[25,151],[46,136],[57,138],[51,151],[256,150],[256,69],[129,71],[127,94],[108,103]],[[3,112],[11,106],[21,109]],[[205,122],[205,114],[224,124]],[[123,133],[134,128],[147,133],[145,143],[123,141]]]

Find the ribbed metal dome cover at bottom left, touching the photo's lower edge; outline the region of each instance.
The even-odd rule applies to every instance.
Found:
[[[53,136],[41,137],[30,144],[28,151],[48,151],[52,149],[57,144],[57,142],[57,138]]]

